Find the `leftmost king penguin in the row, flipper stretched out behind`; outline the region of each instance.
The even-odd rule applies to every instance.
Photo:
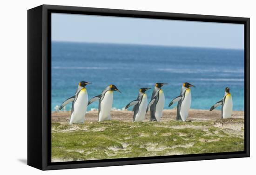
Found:
[[[85,113],[88,104],[88,94],[85,86],[88,84],[91,84],[91,82],[80,81],[74,96],[65,100],[60,106],[61,110],[68,103],[72,102],[69,124],[83,123],[85,120]]]

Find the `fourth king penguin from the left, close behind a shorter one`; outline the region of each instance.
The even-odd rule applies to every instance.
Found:
[[[164,106],[164,94],[161,89],[163,85],[167,83],[155,83],[151,101],[148,103],[147,112],[150,108],[150,119],[149,121],[160,121],[162,117],[162,111]]]

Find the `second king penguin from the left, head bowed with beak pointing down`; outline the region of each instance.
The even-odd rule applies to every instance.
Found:
[[[113,91],[120,92],[115,85],[109,85],[101,94],[93,97],[88,101],[88,106],[96,100],[99,100],[99,122],[104,120],[111,120],[110,111],[113,103]],[[121,93],[121,92],[120,92]]]

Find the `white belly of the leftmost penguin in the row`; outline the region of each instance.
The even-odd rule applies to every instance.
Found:
[[[69,124],[84,122],[87,105],[88,105],[88,94],[87,94],[87,90],[84,88],[80,91],[76,101],[74,102],[74,109],[73,109],[73,113],[71,114]]]

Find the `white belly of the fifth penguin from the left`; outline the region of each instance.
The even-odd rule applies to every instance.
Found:
[[[190,89],[187,89],[185,93],[185,97],[181,104],[181,109],[180,109],[180,115],[181,115],[182,121],[186,121],[189,115],[190,105],[191,105],[191,93],[190,93]]]

